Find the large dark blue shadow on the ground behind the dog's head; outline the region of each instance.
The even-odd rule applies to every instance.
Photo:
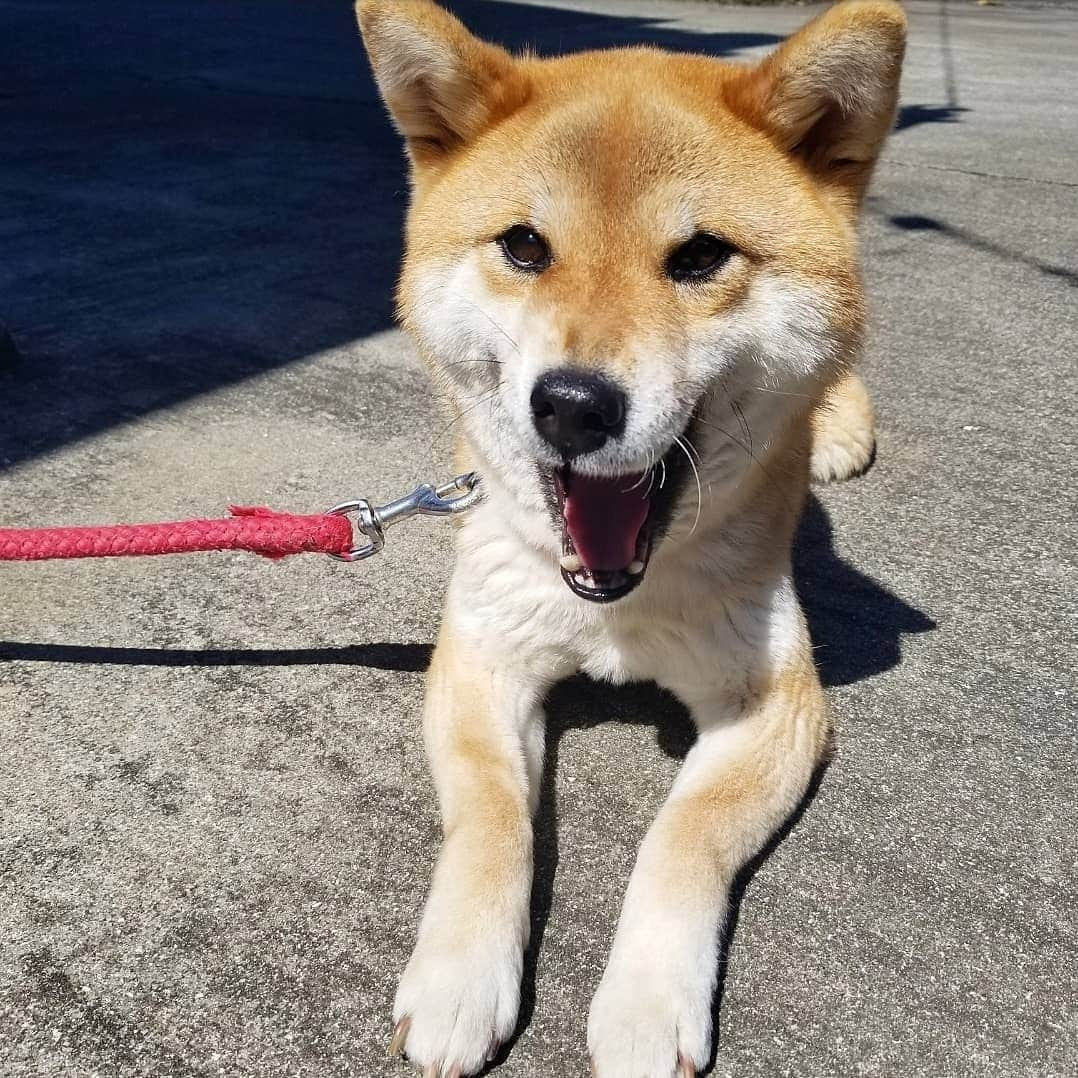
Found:
[[[540,53],[776,40],[453,6]],[[392,324],[406,179],[348,0],[0,22],[0,470]]]

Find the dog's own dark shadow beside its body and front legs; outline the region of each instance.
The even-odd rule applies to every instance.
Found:
[[[936,622],[926,613],[844,562],[835,552],[832,540],[827,510],[813,496],[798,529],[794,577],[808,619],[820,678],[829,687],[849,685],[897,666],[901,662],[903,634],[924,633],[936,627]],[[531,942],[525,956],[516,1034],[499,1053],[498,1063],[527,1028],[535,1011],[537,958],[550,916],[558,863],[555,776],[559,744],[567,731],[599,725],[612,714],[618,715],[621,721],[653,725],[659,748],[673,759],[683,759],[695,741],[695,728],[687,709],[671,693],[654,685],[611,688],[581,676],[562,682],[548,697],[547,760],[535,827]],[[745,893],[760,867],[797,827],[812,804],[826,770],[825,762],[813,776],[798,807],[734,881],[722,935],[719,983],[715,996],[716,1047],[725,987],[725,958],[737,928]]]

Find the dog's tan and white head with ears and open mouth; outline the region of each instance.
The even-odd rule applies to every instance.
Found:
[[[856,350],[901,9],[840,4],[751,67],[514,58],[429,0],[358,10],[412,163],[404,323],[533,541],[618,598],[699,514],[682,481],[765,454]]]

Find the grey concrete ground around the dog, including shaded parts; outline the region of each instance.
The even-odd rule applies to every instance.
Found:
[[[807,14],[458,5],[541,50],[747,56]],[[913,3],[867,207],[880,456],[800,585],[839,727],[746,876],[716,1075],[1078,1072],[1078,10]],[[447,474],[391,324],[399,149],[346,2],[0,0],[0,522],[316,511]],[[0,567],[0,1073],[371,1076],[438,839],[448,536],[377,561]],[[551,701],[506,1076],[583,1076],[689,743]]]

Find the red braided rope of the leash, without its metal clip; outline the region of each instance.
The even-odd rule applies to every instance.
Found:
[[[272,509],[231,506],[232,516],[171,524],[118,524],[99,528],[0,528],[0,562],[55,557],[129,557],[246,550],[265,557],[346,554],[351,522],[318,513],[294,516]]]

